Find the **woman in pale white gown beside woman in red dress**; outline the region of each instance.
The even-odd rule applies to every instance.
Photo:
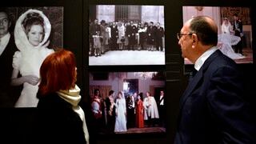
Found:
[[[118,92],[118,98],[115,102],[116,117],[114,124],[114,132],[125,132],[126,128],[126,99],[123,98],[122,92]]]

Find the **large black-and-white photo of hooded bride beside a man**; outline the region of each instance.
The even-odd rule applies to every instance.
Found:
[[[62,47],[63,7],[1,7],[0,21],[0,107],[36,107],[40,66]]]

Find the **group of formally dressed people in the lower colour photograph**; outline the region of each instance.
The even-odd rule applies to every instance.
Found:
[[[145,96],[137,92],[124,96],[121,91],[115,95],[114,90],[102,98],[100,90],[95,89],[91,97],[94,129],[117,133],[130,128],[165,126],[164,91],[156,98],[149,91]]]

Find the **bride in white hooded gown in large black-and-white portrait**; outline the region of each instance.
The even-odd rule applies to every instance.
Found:
[[[54,52],[46,47],[50,30],[50,21],[40,10],[27,10],[16,22],[14,39],[19,51],[13,58],[11,85],[23,85],[23,89],[15,107],[36,107],[38,104],[39,69],[46,56]]]

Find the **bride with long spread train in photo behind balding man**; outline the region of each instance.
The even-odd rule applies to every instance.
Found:
[[[235,53],[232,46],[238,44],[241,38],[233,35],[233,28],[227,18],[222,22],[222,34],[218,34],[218,48],[223,54],[232,59],[245,58],[242,54]]]

